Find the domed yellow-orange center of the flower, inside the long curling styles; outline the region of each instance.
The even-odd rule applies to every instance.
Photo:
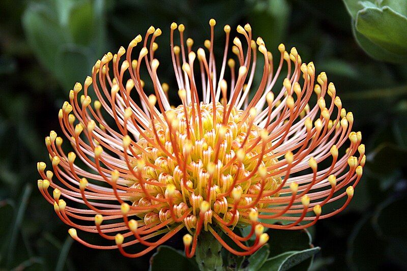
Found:
[[[147,181],[144,186],[158,199],[169,196],[167,185],[175,186],[172,208],[179,218],[191,210],[184,220],[189,229],[195,228],[203,200],[210,204],[205,224],[211,223],[212,212],[226,222],[234,220],[234,226],[250,224],[240,219],[239,212],[249,212],[245,206],[257,200],[263,183],[263,190],[274,190],[281,184],[281,178],[272,174],[275,170],[268,170],[277,159],[267,151],[271,141],[261,139],[263,129],[253,123],[252,116],[245,117],[243,110],[232,107],[227,116],[228,109],[217,103],[214,114],[213,104],[201,103],[199,108],[196,104],[195,108],[180,105],[155,118],[154,129],[150,125],[146,137],[140,137],[136,143],[140,148],[135,153],[143,166],[135,166],[135,171],[141,171]],[[223,121],[225,116],[227,121]],[[266,174],[260,174],[260,168]],[[141,185],[136,180],[133,187],[140,189]],[[262,199],[273,196],[278,193]],[[135,206],[157,203],[146,195],[135,196],[133,201]],[[169,219],[171,206],[163,205],[147,213],[144,222]],[[258,199],[254,206],[261,209],[268,204]]]

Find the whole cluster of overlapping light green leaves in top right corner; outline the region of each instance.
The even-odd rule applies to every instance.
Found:
[[[407,61],[405,0],[343,0],[352,17],[358,44],[371,57],[386,62]]]

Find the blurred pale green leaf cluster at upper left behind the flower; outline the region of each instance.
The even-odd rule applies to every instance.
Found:
[[[103,5],[103,0],[43,0],[28,5],[22,17],[28,43],[65,88],[89,74],[103,53]]]

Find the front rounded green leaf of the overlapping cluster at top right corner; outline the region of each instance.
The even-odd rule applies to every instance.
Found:
[[[407,56],[407,18],[389,7],[358,12],[355,26],[374,44],[400,56]]]

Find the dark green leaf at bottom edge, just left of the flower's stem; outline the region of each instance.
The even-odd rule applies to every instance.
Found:
[[[199,270],[193,259],[188,259],[178,250],[168,246],[160,246],[150,259],[151,271]]]

